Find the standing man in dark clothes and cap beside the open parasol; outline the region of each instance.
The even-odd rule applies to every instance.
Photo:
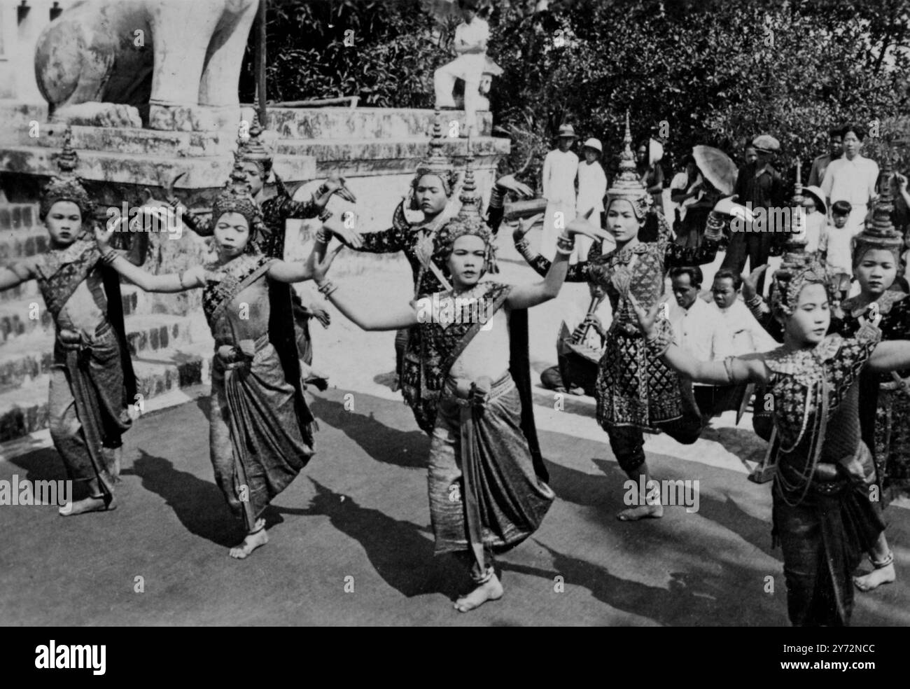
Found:
[[[740,168],[733,193],[738,197],[738,203],[752,208],[755,222],[750,228],[752,231],[733,232],[727,255],[721,264],[721,268],[731,269],[737,274],[743,272],[746,258],[749,259],[750,270],[767,263],[776,233],[784,230],[778,227],[784,221],[784,178],[771,165],[773,154],[780,150],[781,145],[767,134],[756,137],[752,145],[758,152],[758,159]],[[764,274],[757,285],[759,294],[763,288]]]

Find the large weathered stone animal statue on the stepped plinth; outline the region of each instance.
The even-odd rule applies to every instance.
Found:
[[[257,8],[258,0],[76,3],[38,38],[38,87],[53,114],[88,112],[101,120],[85,124],[136,127],[138,115],[153,128],[207,128],[205,118],[192,121],[204,109],[197,106],[207,106],[225,110],[233,126]],[[85,103],[116,105],[76,107]]]

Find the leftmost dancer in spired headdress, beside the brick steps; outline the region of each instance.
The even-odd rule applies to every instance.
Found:
[[[78,159],[71,140],[67,127],[57,161],[60,175],[41,198],[39,214],[51,238],[50,250],[0,269],[0,289],[37,280],[54,317],[51,439],[68,478],[80,493],[87,491],[86,497],[61,507],[63,515],[116,508],[121,435],[132,424],[128,407],[136,396],[119,277],[102,262],[91,238],[93,204],[74,173]],[[145,258],[146,247],[144,238],[135,241],[129,260]]]

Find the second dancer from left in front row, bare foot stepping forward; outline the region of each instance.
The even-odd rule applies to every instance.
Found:
[[[217,261],[179,274],[152,275],[106,251],[105,260],[142,289],[203,289],[203,309],[215,337],[210,454],[218,488],[242,517],[247,536],[230,551],[245,558],[268,542],[262,512],[313,454],[310,414],[288,318],[288,283],[309,279],[308,266],[256,251],[262,231],[241,159],[212,211]]]

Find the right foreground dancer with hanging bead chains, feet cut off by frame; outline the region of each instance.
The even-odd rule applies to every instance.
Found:
[[[864,370],[910,366],[910,341],[881,342],[865,320],[852,337],[826,336],[834,294],[824,269],[799,252],[786,254],[783,266],[774,274],[772,309],[784,345],[771,352],[694,360],[655,327],[659,305],[634,307],[646,346],[674,370],[715,385],[753,382],[773,395],[773,533],[784,549],[790,621],[846,625],[851,575],[884,529],[869,499],[873,469],[860,432],[858,380]]]

